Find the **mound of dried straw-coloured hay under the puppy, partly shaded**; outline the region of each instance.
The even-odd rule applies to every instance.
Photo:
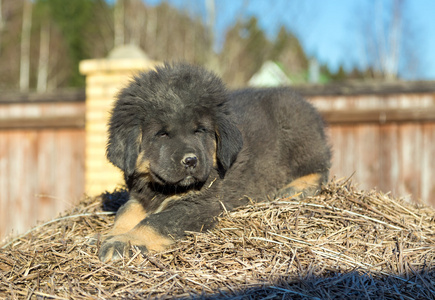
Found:
[[[224,214],[162,253],[104,264],[85,199],[0,250],[0,298],[435,299],[435,213],[348,182]]]

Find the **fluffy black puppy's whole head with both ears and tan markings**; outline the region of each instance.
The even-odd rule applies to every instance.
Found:
[[[212,168],[223,176],[242,148],[227,95],[216,75],[187,64],[138,75],[113,108],[108,159],[161,185],[202,183]]]

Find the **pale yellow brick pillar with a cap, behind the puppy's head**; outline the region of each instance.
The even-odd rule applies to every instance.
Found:
[[[96,196],[124,183],[122,173],[106,158],[107,122],[115,97],[132,76],[157,65],[137,47],[115,48],[105,59],[80,62],[86,76],[85,192]]]

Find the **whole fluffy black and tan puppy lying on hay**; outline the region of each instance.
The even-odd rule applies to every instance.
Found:
[[[99,258],[160,251],[267,197],[314,195],[331,153],[324,122],[289,88],[229,91],[201,67],[166,64],[118,96],[107,157],[129,190]]]

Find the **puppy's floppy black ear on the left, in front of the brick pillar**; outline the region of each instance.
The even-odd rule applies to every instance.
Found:
[[[122,108],[113,110],[109,123],[106,155],[109,161],[129,176],[133,174],[140,151],[142,131],[138,124],[125,118]],[[134,115],[134,112],[132,113]],[[131,116],[130,116],[131,118]]]

